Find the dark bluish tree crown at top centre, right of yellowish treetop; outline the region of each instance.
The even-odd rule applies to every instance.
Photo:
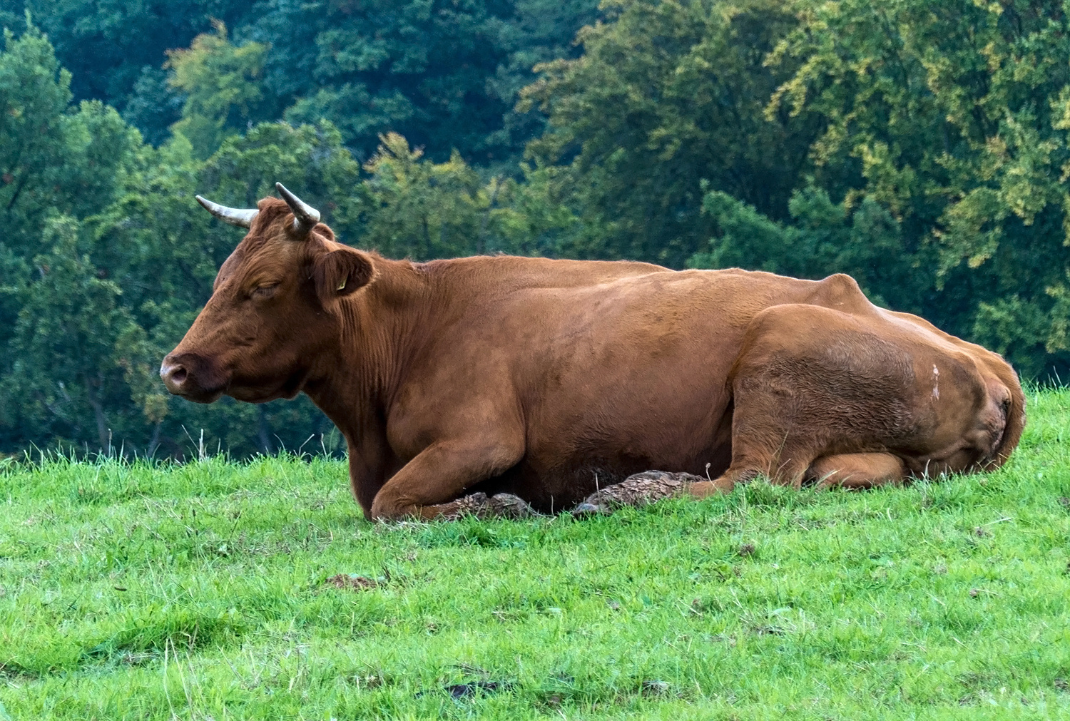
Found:
[[[327,119],[358,157],[400,133],[435,160],[519,156],[539,128],[513,110],[532,65],[570,51],[596,2],[407,0],[284,3],[253,25],[271,43],[269,85],[293,123]],[[511,168],[509,171],[511,172]]]

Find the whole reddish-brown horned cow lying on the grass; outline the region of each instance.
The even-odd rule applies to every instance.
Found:
[[[868,487],[996,469],[1022,432],[1003,358],[845,275],[387,260],[278,189],[258,210],[200,199],[249,232],[160,375],[199,402],[308,394],[369,518],[475,492],[560,509],[647,469],[708,469],[697,496],[758,474]]]

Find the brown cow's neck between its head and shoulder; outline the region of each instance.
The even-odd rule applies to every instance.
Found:
[[[363,435],[379,426],[402,382],[404,369],[427,334],[432,304],[421,264],[373,256],[377,276],[341,298],[338,332],[306,393],[345,433]]]

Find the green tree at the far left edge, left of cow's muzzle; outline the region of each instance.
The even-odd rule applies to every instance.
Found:
[[[72,107],[70,80],[36,28],[17,40],[5,32],[0,52],[0,438],[5,439],[0,442],[5,445],[55,436],[92,438],[95,445],[101,429],[109,427],[109,409],[124,402],[114,396],[122,394],[117,389],[122,379],[108,355],[114,333],[125,327],[113,297],[119,289],[97,275],[77,236],[79,218],[114,199],[140,140],[98,102]],[[72,309],[77,312],[65,317]],[[90,331],[93,322],[103,324],[100,334]],[[75,366],[82,360],[90,365],[79,370]]]

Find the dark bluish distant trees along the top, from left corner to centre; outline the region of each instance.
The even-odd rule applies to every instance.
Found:
[[[241,82],[218,88],[202,75],[194,90],[169,88],[160,70],[167,50],[203,45],[203,33],[215,36],[212,24],[226,22],[239,50],[265,52],[254,83],[263,95],[247,108],[254,124],[281,119],[284,110],[294,124],[330,120],[361,159],[374,151],[379,134],[395,131],[433,149],[438,160],[456,148],[470,162],[509,173],[541,128],[537,113],[514,110],[517,93],[535,77],[532,66],[575,56],[576,31],[598,16],[596,0],[0,0],[0,27],[21,31],[25,10],[74,72],[75,96],[117,107],[153,144],[166,141],[188,94],[248,85],[251,59],[226,48],[195,52],[221,76],[244,75]],[[230,121],[240,107],[231,108]],[[218,114],[193,116],[201,120],[187,131],[211,140]]]

